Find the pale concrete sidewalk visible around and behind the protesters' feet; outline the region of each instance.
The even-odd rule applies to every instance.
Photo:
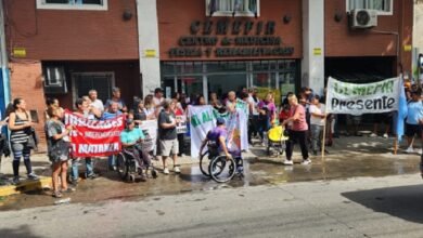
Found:
[[[261,145],[258,145],[259,143],[256,143],[256,146],[253,146],[248,149],[248,151],[243,154],[243,157],[245,159],[265,159],[266,161],[273,161],[277,163],[282,162],[284,159],[283,156],[274,156],[269,157],[266,154],[266,148]],[[420,144],[420,143],[415,143]],[[405,154],[403,149],[406,148],[405,142],[401,144],[401,148],[398,150],[398,155],[394,155],[394,137],[389,138],[383,138],[383,137],[369,137],[369,136],[342,136],[339,138],[334,138],[334,144],[331,147],[328,147],[329,154],[325,156],[328,160],[331,159],[344,159],[344,158],[352,158],[352,157],[380,157],[380,158],[390,158],[390,159],[412,159],[415,160],[418,158],[418,154]],[[415,147],[418,148],[418,147]],[[419,146],[420,148],[420,146]],[[299,148],[296,146],[294,148],[294,160],[298,161],[302,159],[299,154]],[[415,149],[418,150],[418,149]],[[321,156],[318,155],[311,156],[311,160],[320,160]],[[33,162],[33,170],[41,176],[41,180],[39,182],[33,182],[33,181],[23,181],[21,185],[14,186],[10,184],[10,180],[12,177],[13,171],[12,171],[12,158],[3,158],[1,161],[1,171],[0,175],[0,197],[1,196],[9,196],[12,194],[20,194],[28,190],[34,189],[42,189],[46,187],[49,187],[51,184],[51,169],[50,169],[50,161],[44,153],[40,154],[34,154],[31,156],[31,162]],[[198,160],[195,158],[191,158],[189,156],[183,156],[179,158],[180,164],[193,164],[197,163]],[[95,160],[95,171],[100,174],[105,173],[107,171],[107,159],[101,158]],[[162,161],[154,161],[154,164],[156,168],[162,168]],[[25,177],[25,167],[23,162],[21,163],[20,168],[20,174],[24,178]],[[84,170],[84,166],[81,167],[81,171]],[[376,169],[376,168],[375,168]]]

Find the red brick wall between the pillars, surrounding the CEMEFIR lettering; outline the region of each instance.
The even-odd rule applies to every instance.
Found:
[[[168,51],[171,48],[178,47],[178,39],[181,36],[190,36],[191,23],[195,19],[204,22],[208,17],[205,15],[204,0],[157,0],[157,16],[158,16],[158,35],[161,45],[161,60],[178,60],[169,58]],[[289,24],[284,24],[282,18],[284,15],[292,17]],[[219,17],[210,17],[217,22]],[[233,22],[233,17],[228,17]],[[302,36],[302,1],[300,0],[262,0],[260,1],[260,16],[254,17],[235,17],[235,19],[251,19],[254,22],[274,21],[275,34],[282,38],[283,44],[294,47],[294,54],[291,58],[300,58],[303,56],[303,36]],[[211,35],[215,36],[215,35]],[[227,36],[230,36],[228,34]],[[242,34],[240,34],[242,36]],[[253,35],[254,36],[254,35]],[[223,60],[248,60],[245,57],[225,57]],[[254,57],[256,60],[257,57]],[[266,57],[268,58],[268,57]],[[198,60],[198,58],[179,58],[179,60]],[[216,60],[215,57],[203,56],[202,60]],[[253,60],[251,57],[249,60]]]

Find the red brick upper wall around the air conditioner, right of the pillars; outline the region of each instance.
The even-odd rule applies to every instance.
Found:
[[[371,30],[350,30],[346,15],[346,0],[326,0],[324,9],[325,56],[396,56],[397,36],[382,35]],[[377,27],[372,30],[394,31],[400,36],[400,56],[406,69],[411,67],[411,52],[405,52],[403,45],[411,44],[412,0],[395,0],[393,15],[380,15]],[[339,23],[336,13],[342,13]]]

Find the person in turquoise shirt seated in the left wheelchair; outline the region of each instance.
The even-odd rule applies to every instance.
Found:
[[[120,142],[126,154],[129,154],[136,160],[137,171],[140,174],[141,181],[145,181],[146,175],[143,170],[151,168],[150,155],[143,151],[140,142],[145,138],[144,133],[140,128],[136,128],[132,119],[126,121],[126,128],[120,133]]]

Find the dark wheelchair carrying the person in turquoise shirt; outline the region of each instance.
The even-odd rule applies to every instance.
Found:
[[[137,160],[133,157],[133,150],[141,149],[141,146],[133,146],[130,148],[123,148],[123,150],[116,156],[116,171],[119,177],[123,181],[128,181],[134,183],[138,178],[142,177],[142,173],[145,175],[145,178],[150,175],[153,178],[157,177],[157,171],[155,170],[153,163],[149,168],[148,164],[140,164],[141,168],[145,168],[145,171],[140,173],[139,168],[137,168]],[[140,150],[140,157],[142,157]],[[141,159],[143,162],[143,160]]]

